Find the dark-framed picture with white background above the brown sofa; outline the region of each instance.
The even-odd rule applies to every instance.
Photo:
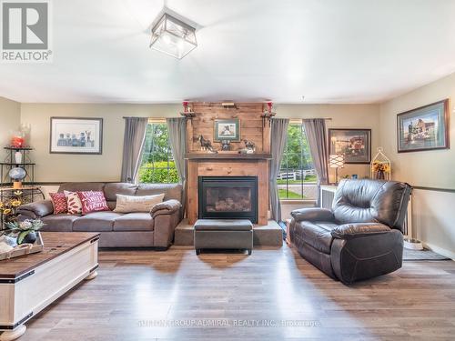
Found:
[[[51,154],[102,154],[103,119],[51,117]]]

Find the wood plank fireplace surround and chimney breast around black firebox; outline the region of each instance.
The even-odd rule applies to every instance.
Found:
[[[240,139],[253,141],[257,154],[270,153],[269,120],[263,120],[264,105],[262,103],[236,103],[236,107],[225,108],[221,103],[192,103],[195,117],[187,120],[187,145],[189,154],[205,153],[200,151],[200,144],[195,141],[198,135],[210,140],[215,149],[221,149],[221,144],[214,142],[214,126],[216,119],[240,120]],[[231,142],[231,150],[245,148],[245,144]],[[237,155],[238,156],[238,155]],[[268,223],[268,171],[269,162],[262,159],[189,158],[187,160],[187,218],[189,224],[194,224],[198,216],[197,178],[198,176],[258,176],[258,225]]]

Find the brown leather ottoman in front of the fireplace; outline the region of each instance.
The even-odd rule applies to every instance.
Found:
[[[195,224],[195,249],[253,250],[253,224],[247,219],[199,219]]]

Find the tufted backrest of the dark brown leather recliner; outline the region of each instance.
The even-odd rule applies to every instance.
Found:
[[[332,211],[339,224],[379,222],[402,231],[410,191],[397,181],[343,179]]]

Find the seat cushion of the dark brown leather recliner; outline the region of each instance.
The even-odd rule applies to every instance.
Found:
[[[331,231],[337,226],[330,222],[301,221],[295,226],[295,235],[309,246],[329,255],[333,241]]]

